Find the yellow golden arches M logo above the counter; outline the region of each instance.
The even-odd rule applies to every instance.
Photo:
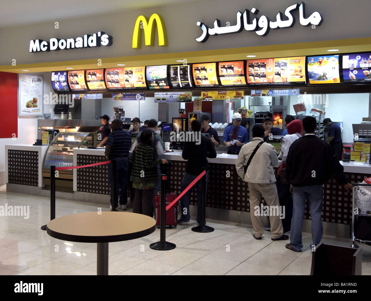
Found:
[[[154,24],[156,21],[156,24]],[[158,46],[167,46],[167,33],[164,19],[159,14],[152,14],[150,20],[145,16],[139,16],[135,22],[132,48],[141,48],[142,29],[144,30],[144,42],[146,46],[155,45],[155,29],[157,27]]]

